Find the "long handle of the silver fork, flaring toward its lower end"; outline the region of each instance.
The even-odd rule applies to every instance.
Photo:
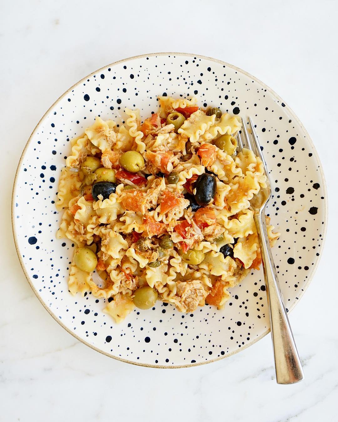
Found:
[[[254,212],[258,240],[262,255],[266,295],[269,305],[270,331],[275,357],[276,379],[278,384],[293,384],[304,377],[295,340],[292,335],[285,309],[275,264],[271,254],[265,213]]]

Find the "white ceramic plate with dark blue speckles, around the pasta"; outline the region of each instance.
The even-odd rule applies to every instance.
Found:
[[[157,302],[153,310],[135,309],[116,325],[102,312],[104,299],[70,295],[73,245],[55,238],[61,213],[54,200],[70,138],[97,115],[123,120],[125,107],[149,116],[158,95],[195,95],[201,106],[251,116],[257,125],[274,194],[268,212],[281,232],[273,256],[289,310],[318,264],[327,203],[319,159],[295,114],[262,82],[219,60],[176,53],[132,57],[85,77],[51,106],[27,142],[14,182],[14,239],[27,280],[54,319],[78,340],[125,362],[172,368],[230,356],[268,333],[262,271],[231,289],[222,311],[204,306],[181,314]]]

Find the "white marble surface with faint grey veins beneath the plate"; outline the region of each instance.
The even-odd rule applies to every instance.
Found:
[[[1,421],[338,420],[337,4],[3,2]],[[66,333],[24,277],[11,234],[11,187],[35,124],[83,76],[156,51],[203,54],[252,73],[291,106],[319,152],[330,222],[316,275],[290,314],[306,374],[299,384],[276,384],[270,336],[195,368],[160,370],[112,360]]]

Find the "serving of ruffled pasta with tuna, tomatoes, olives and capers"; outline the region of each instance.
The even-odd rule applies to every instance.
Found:
[[[250,200],[266,187],[263,163],[218,147],[240,120],[210,116],[195,97],[159,105],[143,122],[129,108],[125,125],[97,116],[70,141],[59,179],[57,238],[75,244],[68,289],[106,299],[116,322],[156,300],[181,312],[222,308],[261,264]],[[269,217],[266,226],[274,246]]]

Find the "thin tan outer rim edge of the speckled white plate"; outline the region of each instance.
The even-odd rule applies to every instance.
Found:
[[[38,121],[38,123],[36,124],[35,128],[33,129],[32,133],[30,134],[30,137],[28,138],[28,141],[26,143],[26,145],[24,146],[24,149],[22,151],[22,154],[20,156],[20,160],[18,163],[18,166],[16,168],[16,172],[15,172],[15,177],[14,177],[14,183],[13,183],[13,189],[12,189],[12,200],[11,200],[11,220],[12,220],[12,232],[13,232],[13,238],[14,238],[14,244],[15,244],[15,249],[16,249],[16,254],[18,255],[19,258],[19,262],[22,268],[22,271],[31,287],[31,289],[33,290],[33,292],[35,293],[36,297],[38,298],[38,300],[40,301],[40,303],[43,305],[43,307],[48,311],[48,313],[51,315],[51,317],[53,317],[53,319],[55,321],[57,321],[59,323],[59,325],[61,325],[62,328],[64,328],[69,334],[71,334],[74,338],[76,338],[78,341],[80,341],[81,343],[85,344],[86,346],[89,346],[91,349],[95,350],[96,352],[99,352],[101,354],[104,354],[105,356],[111,357],[113,359],[119,360],[121,362],[125,362],[125,363],[130,363],[131,365],[137,365],[137,366],[144,366],[147,368],[160,368],[160,369],[176,369],[176,368],[190,368],[192,366],[200,366],[200,365],[206,365],[208,363],[213,363],[222,359],[225,359],[227,357],[230,357],[238,352],[241,352],[242,350],[248,348],[249,346],[252,346],[253,344],[257,343],[257,341],[261,340],[263,337],[265,337],[265,335],[267,335],[270,332],[270,328],[268,328],[264,333],[262,333],[259,337],[253,339],[252,341],[250,341],[248,344],[246,344],[245,346],[241,347],[241,349],[237,349],[234,350],[233,352],[230,352],[229,354],[226,354],[224,356],[220,356],[220,357],[216,357],[215,359],[212,360],[208,360],[206,362],[195,362],[195,363],[190,363],[187,365],[151,365],[151,364],[147,364],[147,363],[141,363],[141,362],[133,362],[131,360],[127,360],[127,359],[123,359],[122,357],[119,356],[114,356],[109,354],[108,352],[104,352],[101,349],[98,349],[97,347],[95,347],[92,344],[89,344],[87,341],[85,341],[84,339],[82,339],[81,337],[79,337],[77,334],[73,333],[68,327],[66,327],[63,322],[58,319],[56,317],[55,314],[53,314],[53,312],[50,310],[50,308],[46,305],[46,303],[42,300],[41,296],[39,295],[38,291],[35,289],[34,284],[32,283],[32,281],[30,280],[30,277],[26,271],[24,262],[22,260],[22,255],[20,253],[19,250],[19,244],[18,244],[18,237],[17,237],[17,233],[16,233],[16,227],[15,227],[15,221],[16,219],[14,218],[14,209],[15,209],[15,201],[14,201],[14,197],[15,197],[15,191],[17,188],[17,178],[19,175],[19,170],[21,168],[21,164],[22,164],[22,160],[24,158],[25,152],[28,148],[28,146],[30,145],[30,142],[33,138],[33,136],[35,135],[35,132],[38,128],[38,126],[40,125],[40,123],[43,121],[43,119],[47,116],[47,114],[49,114],[49,111],[51,110],[51,108],[53,108],[55,106],[55,104],[57,104],[60,100],[62,100],[63,97],[65,97],[65,95],[68,94],[68,92],[70,92],[73,88],[77,87],[79,84],[81,84],[83,81],[85,81],[86,79],[90,78],[91,76],[93,76],[95,73],[100,72],[100,70],[103,70],[105,68],[109,67],[113,67],[115,65],[119,65],[121,63],[124,62],[128,62],[130,60],[135,60],[135,59],[143,59],[146,57],[157,57],[157,56],[168,56],[168,55],[173,55],[173,56],[186,56],[186,57],[194,57],[194,58],[199,58],[199,59],[203,59],[203,60],[209,60],[211,62],[216,62],[219,63],[221,65],[225,65],[229,68],[232,68],[234,70],[236,70],[239,73],[243,73],[244,75],[248,76],[249,78],[252,78],[252,80],[258,82],[259,84],[262,85],[262,87],[265,87],[265,89],[267,89],[267,91],[269,91],[274,97],[277,98],[277,100],[279,100],[281,103],[284,103],[284,101],[282,100],[282,98],[276,94],[275,91],[273,91],[273,89],[271,89],[270,87],[268,87],[268,85],[266,85],[264,82],[262,82],[260,79],[256,78],[255,76],[252,76],[250,73],[246,72],[245,70],[242,70],[241,68],[238,68],[237,66],[231,65],[230,63],[224,62],[223,60],[219,60],[219,59],[214,59],[213,57],[208,57],[208,56],[203,56],[200,54],[192,54],[192,53],[181,53],[181,52],[159,52],[159,53],[149,53],[149,54],[140,54],[137,56],[132,56],[132,57],[127,57],[125,59],[122,60],[117,60],[116,62],[110,63],[108,65],[103,66],[102,68],[99,68],[97,70],[95,70],[94,72],[90,73],[87,76],[84,76],[84,78],[81,78],[79,81],[77,81],[75,84],[73,84],[69,89],[67,89],[67,91],[65,91],[62,95],[60,95],[60,97],[57,98],[57,100],[54,101],[54,103],[49,107],[49,109],[43,114],[43,116],[41,117],[41,119]],[[296,306],[296,304],[299,302],[299,300],[303,297],[304,293],[306,292],[309,284],[312,281],[312,278],[314,276],[314,274],[316,273],[319,261],[322,257],[322,251],[324,249],[324,244],[325,244],[325,240],[326,240],[326,233],[327,233],[327,216],[328,216],[328,200],[327,200],[327,186],[326,186],[326,180],[325,180],[325,176],[324,176],[324,170],[322,168],[322,163],[319,159],[319,155],[318,152],[316,151],[316,148],[314,146],[314,143],[312,142],[312,139],[310,137],[310,135],[308,134],[308,131],[306,130],[306,128],[304,127],[304,125],[302,124],[302,122],[300,122],[300,119],[296,116],[295,112],[287,105],[285,104],[285,108],[289,111],[289,113],[292,115],[292,117],[295,119],[295,121],[300,125],[300,127],[302,128],[305,136],[306,136],[306,140],[308,141],[308,143],[311,146],[312,152],[319,164],[319,172],[322,176],[322,181],[323,181],[323,190],[324,190],[324,229],[323,229],[323,240],[321,243],[321,246],[319,246],[319,256],[316,257],[316,261],[314,262],[314,266],[312,268],[312,271],[310,273],[310,275],[308,276],[308,279],[306,281],[306,284],[303,287],[302,292],[298,295],[298,300],[295,301],[295,303],[289,308],[288,310],[288,314],[292,311],[292,309]]]

